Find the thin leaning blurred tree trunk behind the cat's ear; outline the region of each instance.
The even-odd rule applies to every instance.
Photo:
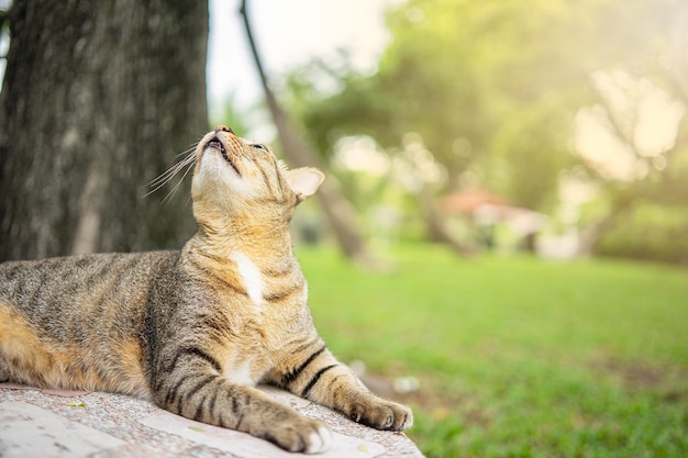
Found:
[[[308,142],[298,134],[296,126],[281,110],[277,103],[277,99],[270,90],[267,76],[263,69],[263,64],[253,38],[253,33],[251,32],[245,0],[242,1],[241,13],[244,16],[244,24],[246,26],[246,35],[248,36],[251,51],[253,52],[256,67],[260,76],[260,82],[263,83],[263,89],[265,91],[267,105],[273,115],[275,126],[277,127],[277,133],[279,135],[285,156],[297,167],[310,166],[324,169],[318,154],[315,154]],[[363,264],[370,264],[371,259],[368,256],[363,237],[358,233],[355,224],[354,211],[351,203],[344,198],[336,178],[332,175],[328,176],[325,181],[321,185],[317,196],[344,254],[349,259],[355,259]]]

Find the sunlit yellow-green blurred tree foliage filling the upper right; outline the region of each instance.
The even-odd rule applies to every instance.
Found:
[[[287,78],[291,105],[325,158],[347,135],[369,135],[393,155],[414,132],[446,168],[444,192],[484,187],[552,214],[559,177],[576,169],[611,205],[607,219],[628,217],[639,198],[688,202],[688,181],[678,178],[688,171],[685,119],[665,165],[639,156],[650,170],[633,180],[600,174],[573,146],[584,108],[612,127],[635,126],[637,112],[614,112],[596,71],[622,70],[688,102],[684,0],[409,0],[387,22],[392,40],[377,72],[357,74],[341,54]],[[633,142],[633,132],[611,134]],[[598,225],[596,239],[610,226],[582,223]]]

